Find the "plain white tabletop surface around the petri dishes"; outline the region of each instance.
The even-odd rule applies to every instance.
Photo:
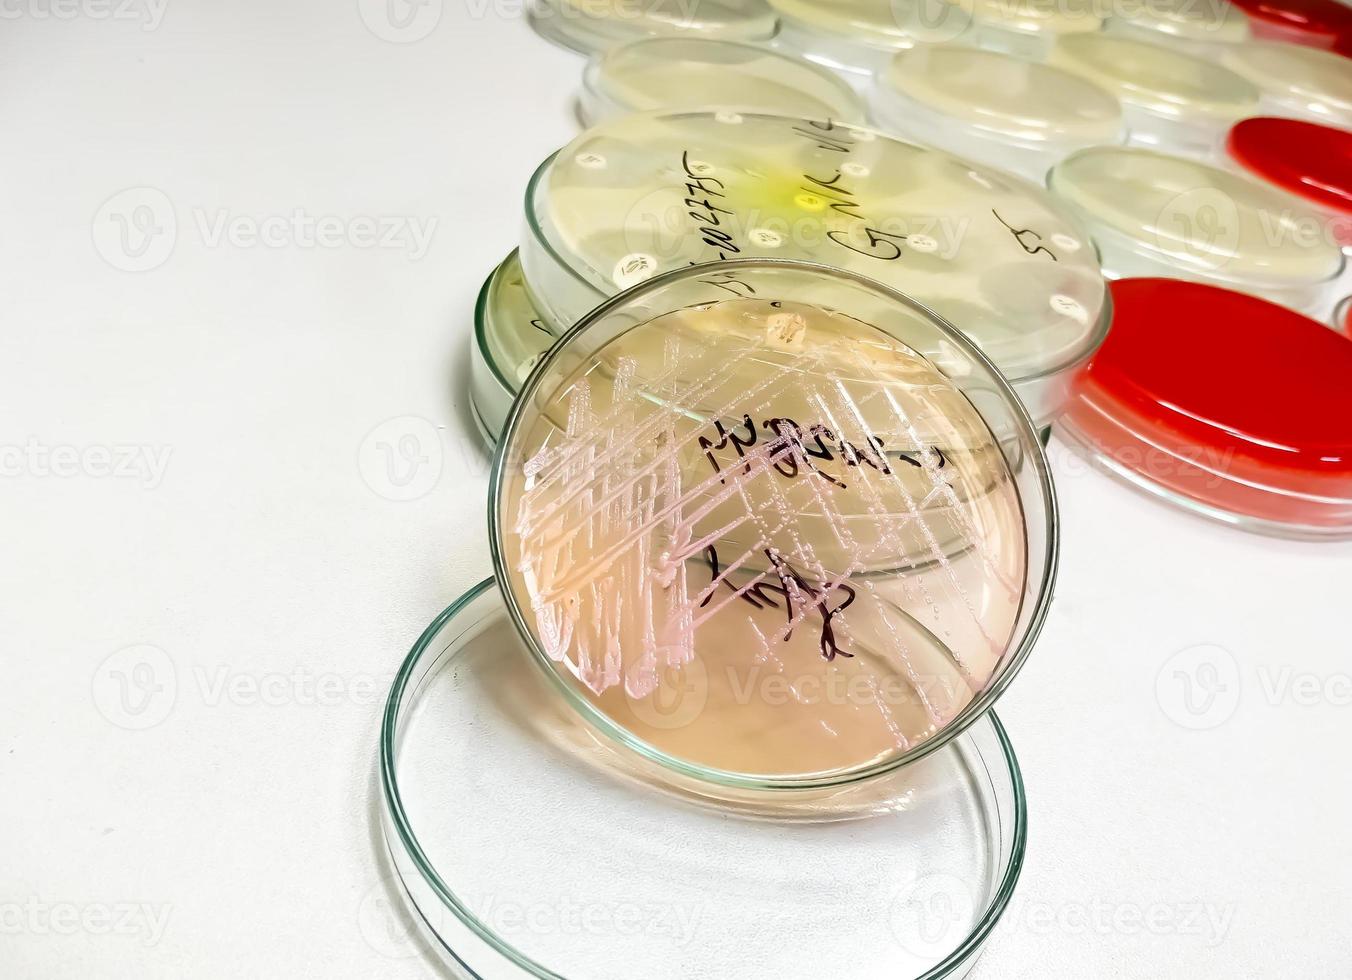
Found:
[[[472,304],[581,62],[510,0],[402,34],[54,3],[0,19],[0,976],[429,976],[375,860],[379,702],[488,573]],[[247,238],[297,210],[342,242]],[[1060,587],[1000,704],[1032,839],[977,976],[1348,976],[1352,547],[1052,454]]]

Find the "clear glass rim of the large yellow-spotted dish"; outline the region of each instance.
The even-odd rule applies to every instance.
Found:
[[[661,115],[699,115],[699,114],[698,112],[695,112],[695,114],[681,112],[681,111],[677,111],[675,114],[668,114],[668,112],[656,111],[656,112],[642,112],[642,114],[634,114],[634,115],[661,116]],[[749,114],[749,115],[768,115],[768,114]],[[786,116],[786,118],[792,119],[794,116]],[[952,153],[948,153],[945,150],[941,150],[938,147],[925,146],[922,143],[915,143],[915,142],[911,142],[909,139],[902,139],[900,137],[895,137],[895,135],[892,135],[890,132],[886,132],[884,130],[880,130],[880,128],[877,128],[876,126],[872,126],[872,124],[856,124],[856,123],[849,123],[849,122],[846,122],[845,124],[850,130],[863,130],[863,131],[869,132],[873,137],[880,138],[880,139],[888,139],[888,141],[891,141],[894,143],[902,143],[904,146],[911,146],[911,147],[923,150],[925,153],[938,154],[938,155],[942,155],[942,157],[948,157],[950,160],[961,161],[961,162],[968,164],[971,166],[976,166],[976,168],[980,168],[980,169],[988,169],[983,164],[979,164],[976,161],[969,161],[965,157],[957,157],[957,155],[955,155]],[[602,289],[600,287],[598,287],[591,278],[588,278],[580,269],[577,269],[576,266],[573,266],[573,264],[569,262],[560,253],[560,250],[554,246],[554,242],[550,241],[550,235],[549,235],[548,230],[545,228],[545,223],[541,219],[539,211],[537,208],[537,201],[542,200],[542,195],[544,195],[544,189],[545,189],[545,181],[549,177],[549,173],[550,173],[554,162],[558,160],[560,154],[565,149],[568,149],[568,146],[572,146],[572,143],[576,142],[576,139],[580,138],[580,137],[581,137],[581,134],[579,134],[579,137],[575,137],[573,141],[569,141],[569,143],[566,143],[566,145],[558,147],[557,150],[554,150],[553,153],[550,153],[544,160],[544,162],[541,162],[539,166],[537,166],[534,169],[534,172],[530,174],[530,180],[526,181],[526,193],[525,193],[525,201],[523,201],[523,210],[525,210],[525,214],[526,214],[526,234],[530,235],[530,246],[534,247],[534,249],[538,249],[538,251],[544,257],[546,257],[549,260],[549,262],[553,265],[553,268],[556,270],[562,272],[577,287],[595,293],[596,295],[596,303],[602,303],[602,301],[608,301],[610,299],[612,299],[615,296],[615,293],[614,292],[606,292],[604,289]],[[1007,177],[1009,174],[999,174],[999,176],[1000,177]],[[1068,214],[1068,210],[1067,210],[1065,204],[1063,201],[1060,201],[1055,195],[1051,195],[1049,191],[1048,191],[1048,188],[1045,188],[1045,187],[1040,188],[1033,181],[1025,181],[1025,182],[1030,184],[1042,196],[1045,196],[1045,197],[1049,199],[1049,200],[1045,201],[1045,204],[1051,210],[1053,210],[1057,216],[1060,216],[1063,220],[1068,220],[1078,230],[1082,230],[1082,232],[1084,235],[1084,245],[1087,245],[1088,247],[1091,247],[1094,250],[1095,261],[1098,262],[1098,265],[1102,266],[1102,260],[1103,260],[1102,249],[1099,249],[1098,242],[1094,241],[1094,237],[1088,234],[1088,228],[1082,228],[1080,227],[1082,226],[1082,220],[1079,218],[1073,216],[1073,214]],[[741,261],[741,260],[722,260],[722,261]],[[848,272],[845,269],[840,269],[840,266],[831,265],[830,262],[822,262],[819,260],[806,260],[806,258],[804,260],[769,260],[769,258],[767,258],[765,261],[787,261],[787,262],[795,262],[795,261],[798,261],[798,262],[803,262],[803,264],[807,264],[807,265],[821,265],[822,268],[826,268],[826,269],[837,269],[840,272]],[[688,268],[688,266],[681,266],[681,268]],[[871,283],[875,283],[877,285],[884,285],[884,288],[891,289],[891,287],[886,287],[886,284],[880,283],[879,280],[872,280],[872,278],[869,278],[867,276],[861,276],[860,278],[867,278]],[[527,291],[531,288],[531,283],[530,283],[530,277],[529,276],[526,277],[526,287],[527,287]],[[906,293],[902,293],[900,291],[896,291],[896,289],[894,289],[894,292],[898,292],[900,295],[906,295]],[[917,304],[923,307],[922,303],[917,301]],[[554,319],[554,318],[552,318],[552,315],[549,314],[549,311],[546,311],[544,308],[541,308],[541,316],[544,316],[546,319],[550,319],[550,320]],[[945,320],[945,322],[948,322],[948,320]],[[1103,295],[1102,295],[1102,303],[1099,305],[1098,316],[1095,318],[1092,327],[1084,334],[1084,337],[1080,339],[1080,342],[1075,346],[1075,349],[1068,356],[1065,356],[1064,358],[1061,358],[1059,361],[1055,361],[1055,362],[1052,362],[1052,364],[1049,364],[1046,366],[1040,366],[1037,370],[1032,370],[1032,372],[1019,372],[1017,374],[1010,374],[1010,373],[1007,373],[1005,370],[1005,368],[1000,368],[999,365],[996,365],[996,369],[1000,372],[1002,377],[1007,378],[1009,381],[1011,381],[1014,384],[1036,383],[1036,381],[1041,381],[1044,378],[1056,377],[1057,374],[1063,374],[1063,373],[1065,373],[1068,370],[1072,370],[1072,369],[1078,368],[1079,365],[1084,364],[1088,358],[1091,358],[1094,356],[1094,351],[1098,350],[1102,346],[1103,338],[1107,337],[1107,331],[1109,331],[1109,327],[1111,327],[1111,324],[1113,324],[1113,299],[1111,299],[1111,295],[1110,295],[1110,292],[1107,289],[1107,285],[1105,284],[1105,287],[1103,287]],[[557,322],[553,322],[553,327],[558,331],[560,335],[564,334],[564,333],[566,333],[566,327],[568,326],[569,324],[560,324]],[[950,323],[949,326],[953,326],[953,324]],[[965,331],[963,331],[961,328],[957,328],[957,331],[960,334],[963,334],[964,339],[971,341],[971,338],[967,335]],[[982,350],[982,357],[983,358],[990,358],[991,356],[987,354],[984,350]]]

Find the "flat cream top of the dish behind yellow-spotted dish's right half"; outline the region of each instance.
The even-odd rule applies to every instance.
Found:
[[[898,54],[880,81],[998,139],[1114,143],[1122,130],[1122,107],[1102,87],[998,51],[917,47]]]

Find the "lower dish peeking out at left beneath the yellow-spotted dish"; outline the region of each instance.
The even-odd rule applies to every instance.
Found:
[[[489,273],[475,303],[469,407],[487,445],[498,442],[522,381],[554,339],[530,301],[512,250]]]

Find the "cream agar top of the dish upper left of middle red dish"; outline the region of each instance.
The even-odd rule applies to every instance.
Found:
[[[1253,115],[1257,88],[1210,61],[1130,38],[1061,38],[1048,62],[1098,82],[1124,103],[1175,119],[1234,122]]]

